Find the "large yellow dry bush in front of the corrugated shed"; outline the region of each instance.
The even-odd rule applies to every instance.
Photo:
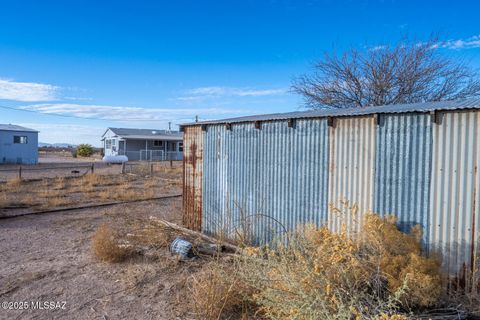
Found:
[[[358,234],[306,226],[238,259],[254,301],[271,319],[402,319],[442,292],[440,263],[422,255],[421,233],[398,230],[393,217],[366,214]],[[260,251],[261,252],[261,251]]]

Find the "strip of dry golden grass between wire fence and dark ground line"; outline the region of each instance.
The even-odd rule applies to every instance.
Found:
[[[150,166],[144,165],[144,166]],[[168,165],[148,177],[137,174],[91,174],[39,180],[10,179],[0,184],[0,210],[48,210],[89,203],[151,199],[180,193],[181,170]],[[1,212],[0,212],[1,214]]]

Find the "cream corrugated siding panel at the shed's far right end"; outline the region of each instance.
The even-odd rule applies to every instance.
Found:
[[[479,227],[479,112],[452,112],[433,125],[430,242],[444,268],[468,282]],[[475,201],[477,200],[477,201]]]

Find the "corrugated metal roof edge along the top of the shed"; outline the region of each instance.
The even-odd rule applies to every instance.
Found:
[[[214,125],[227,123],[242,123],[255,121],[275,121],[288,119],[308,119],[323,117],[347,117],[347,116],[364,116],[382,113],[410,113],[410,112],[430,112],[442,110],[464,110],[464,109],[480,109],[480,98],[420,102],[411,104],[395,104],[385,106],[370,106],[364,108],[345,108],[345,109],[316,109],[308,111],[295,111],[286,113],[272,113],[255,116],[245,116],[237,118],[227,118],[220,120],[209,120],[190,122],[180,125],[180,127],[196,126],[196,125]]]

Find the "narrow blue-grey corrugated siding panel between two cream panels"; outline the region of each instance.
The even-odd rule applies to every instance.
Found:
[[[426,114],[382,115],[377,126],[374,211],[395,214],[409,232],[422,225],[428,243],[432,125]]]

